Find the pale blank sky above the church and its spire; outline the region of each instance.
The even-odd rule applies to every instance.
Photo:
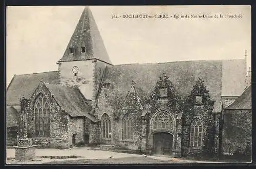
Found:
[[[55,71],[83,6],[7,8],[7,86],[14,74]],[[91,6],[114,65],[251,60],[250,6]],[[242,14],[242,18],[112,19],[113,14]]]

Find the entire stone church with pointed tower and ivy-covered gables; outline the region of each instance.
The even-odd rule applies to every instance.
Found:
[[[57,65],[58,71],[12,78],[7,145],[15,142],[24,96],[34,143],[56,148],[108,144],[173,156],[218,154],[223,110],[246,87],[246,57],[113,65],[88,7]]]

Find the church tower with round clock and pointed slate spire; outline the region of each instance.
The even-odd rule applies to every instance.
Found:
[[[86,99],[95,101],[105,67],[112,64],[89,7],[84,8],[57,64],[60,85],[77,86]]]

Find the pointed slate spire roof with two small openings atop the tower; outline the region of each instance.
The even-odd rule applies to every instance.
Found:
[[[81,53],[82,46],[86,47],[85,54]],[[70,54],[70,47],[73,48],[73,54]],[[89,7],[84,8],[66,51],[59,61],[87,59],[98,59],[111,64],[109,55],[106,52],[97,24],[95,23]]]

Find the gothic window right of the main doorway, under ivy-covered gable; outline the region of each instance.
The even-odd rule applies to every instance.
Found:
[[[190,146],[200,147],[203,139],[203,124],[200,120],[196,119],[190,126]]]

